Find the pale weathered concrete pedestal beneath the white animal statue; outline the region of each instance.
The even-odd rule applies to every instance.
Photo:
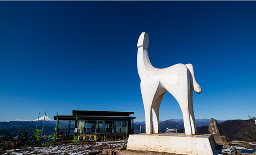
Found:
[[[216,143],[212,135],[186,136],[183,133],[130,135],[127,149],[168,152],[183,155],[213,155]]]

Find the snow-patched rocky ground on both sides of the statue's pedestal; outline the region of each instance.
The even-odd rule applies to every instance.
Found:
[[[164,152],[151,151],[133,151],[126,149],[127,141],[116,142],[81,142],[69,144],[50,145],[48,147],[27,147],[16,150],[1,150],[0,155],[177,155]],[[251,142],[229,142],[226,144],[218,144],[215,150],[216,155],[231,155],[231,148],[235,146],[237,150],[241,150],[243,155],[256,155],[256,143]]]

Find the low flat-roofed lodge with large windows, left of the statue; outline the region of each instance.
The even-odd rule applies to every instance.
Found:
[[[73,110],[73,115],[53,116],[57,120],[56,135],[78,140],[102,138],[103,141],[126,139],[133,134],[134,112]]]

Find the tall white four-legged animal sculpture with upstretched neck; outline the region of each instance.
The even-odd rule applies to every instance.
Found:
[[[186,135],[195,135],[196,122],[193,110],[193,90],[200,94],[202,89],[196,83],[193,65],[176,64],[163,69],[154,68],[150,63],[147,52],[148,46],[148,34],[143,32],[137,44],[137,65],[145,110],[146,133],[153,133],[152,112],[154,133],[160,133],[159,107],[168,91],[180,104]]]

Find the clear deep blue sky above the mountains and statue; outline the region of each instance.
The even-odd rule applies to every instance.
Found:
[[[156,68],[191,63],[196,119],[256,116],[255,0],[0,1],[0,121],[72,110],[144,121],[137,41]],[[181,119],[166,94],[160,120]]]

